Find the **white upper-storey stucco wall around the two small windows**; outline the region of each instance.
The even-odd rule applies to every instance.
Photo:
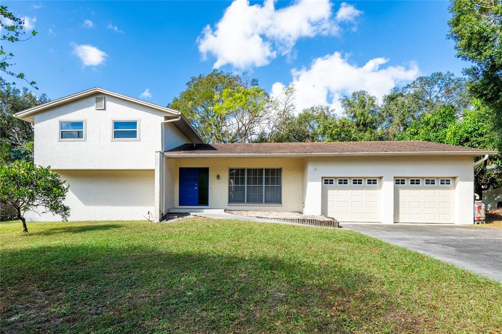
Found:
[[[155,151],[161,149],[161,122],[166,113],[105,95],[105,110],[94,108],[96,94],[34,115],[35,163],[61,169],[153,170]],[[112,120],[138,119],[140,140],[113,141]],[[85,120],[85,141],[60,141],[59,121]],[[168,123],[168,148],[189,142]]]

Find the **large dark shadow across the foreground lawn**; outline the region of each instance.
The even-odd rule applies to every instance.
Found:
[[[0,269],[3,332],[416,330],[337,263],[58,245],[4,252]]]

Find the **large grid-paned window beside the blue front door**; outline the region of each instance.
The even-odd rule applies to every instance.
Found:
[[[228,175],[228,203],[282,203],[280,168],[231,168]]]

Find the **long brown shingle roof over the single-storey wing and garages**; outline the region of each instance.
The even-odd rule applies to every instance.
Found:
[[[165,152],[169,155],[233,155],[233,154],[462,154],[496,153],[483,149],[439,144],[429,141],[345,141],[184,144]]]

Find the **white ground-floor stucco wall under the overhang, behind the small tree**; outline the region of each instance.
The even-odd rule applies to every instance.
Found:
[[[145,220],[154,213],[154,171],[55,171],[70,185],[69,220]],[[29,213],[30,221],[59,221]]]

